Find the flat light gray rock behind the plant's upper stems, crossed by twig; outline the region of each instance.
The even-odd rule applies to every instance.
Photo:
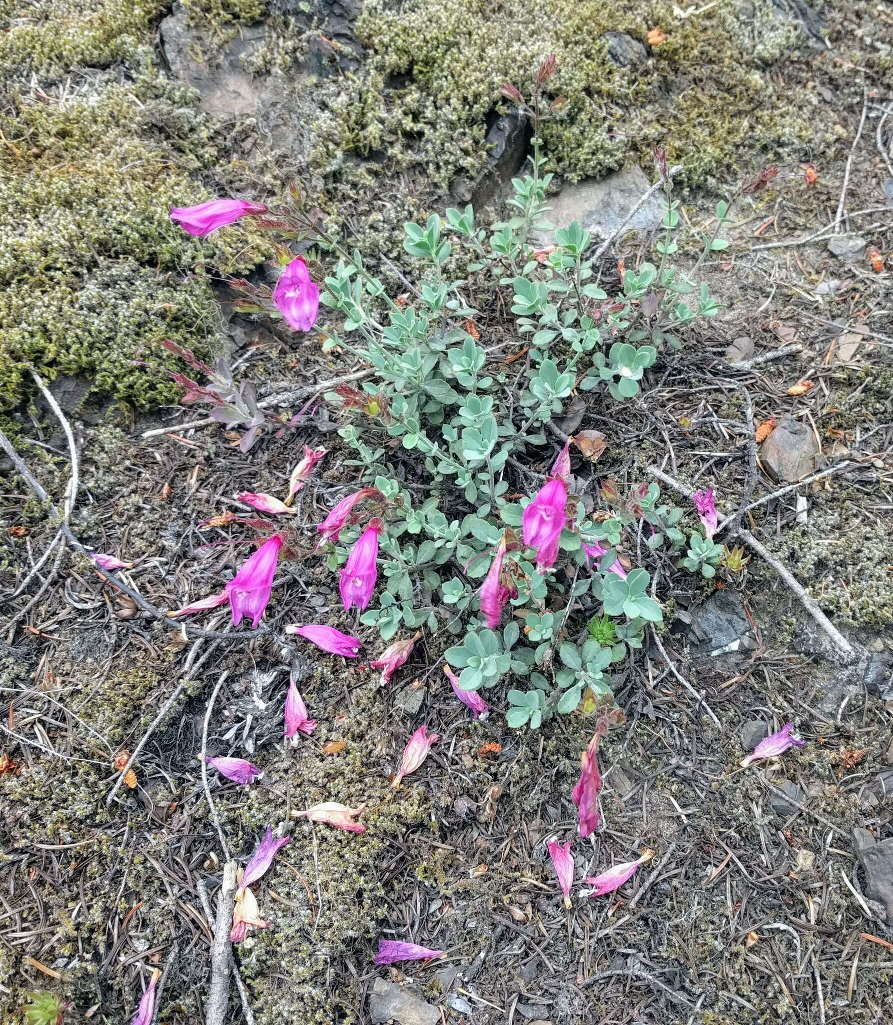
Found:
[[[568,181],[558,195],[550,200],[552,209],[547,214],[555,229],[567,228],[575,220],[593,236],[608,238],[623,223],[627,214],[650,188],[650,182],[638,165],[596,180]],[[625,232],[649,232],[661,224],[664,209],[656,196],[652,196],[624,229]],[[539,233],[543,245],[555,241],[554,230]]]

